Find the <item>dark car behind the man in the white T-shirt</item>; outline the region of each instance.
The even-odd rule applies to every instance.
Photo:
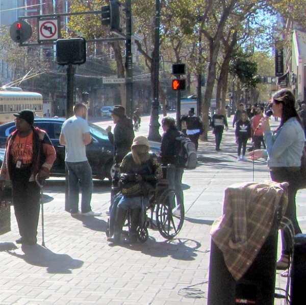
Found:
[[[65,175],[65,146],[60,145],[62,118],[35,118],[34,126],[45,130],[56,150],[56,161],[50,172],[53,176]],[[111,180],[113,165],[113,145],[108,139],[107,132],[99,126],[88,123],[92,141],[86,146],[86,155],[92,168],[93,177],[99,180]],[[15,122],[0,125],[0,166],[2,165],[6,139],[16,129]],[[160,155],[160,143],[149,141],[151,151]]]

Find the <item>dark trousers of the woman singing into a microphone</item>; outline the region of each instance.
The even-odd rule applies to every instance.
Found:
[[[296,206],[295,206],[295,195],[297,192],[297,185],[301,179],[299,171],[294,171],[290,167],[277,167],[270,171],[271,179],[275,182],[288,182],[288,207],[285,213],[285,217],[292,221],[294,227],[294,234],[302,233],[297,219],[296,219]],[[282,230],[282,243],[283,243],[283,254],[290,254],[291,248],[291,237],[288,230]]]

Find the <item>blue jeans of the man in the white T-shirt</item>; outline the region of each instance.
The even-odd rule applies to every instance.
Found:
[[[70,213],[79,210],[79,188],[82,191],[81,211],[91,211],[90,200],[93,190],[92,170],[88,161],[66,162],[68,170],[68,202]]]

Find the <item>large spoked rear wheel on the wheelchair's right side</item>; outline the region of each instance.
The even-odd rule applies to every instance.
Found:
[[[184,205],[180,204],[177,192],[172,189],[165,190],[156,205],[156,222],[161,236],[172,239],[179,234],[184,217]]]

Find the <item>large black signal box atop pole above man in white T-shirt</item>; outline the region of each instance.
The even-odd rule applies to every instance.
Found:
[[[59,65],[81,65],[86,62],[85,38],[67,38],[56,41],[56,60]]]

